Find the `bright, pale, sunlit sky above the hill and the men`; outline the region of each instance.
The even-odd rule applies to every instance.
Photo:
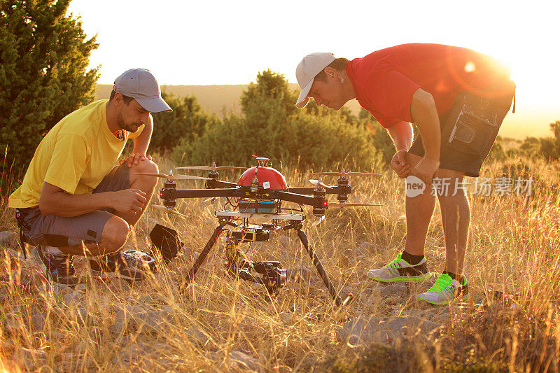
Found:
[[[296,83],[295,66],[311,52],[352,59],[443,43],[510,66],[517,118],[506,118],[506,135],[544,136],[560,120],[560,1],[73,0],[69,13],[97,34],[98,83],[140,67],[161,85],[247,84],[265,69]]]

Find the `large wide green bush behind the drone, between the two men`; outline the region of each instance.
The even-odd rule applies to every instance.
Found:
[[[211,123],[192,143],[182,141],[174,159],[181,164],[247,164],[251,155],[259,155],[303,169],[372,168],[377,152],[363,122],[347,110],[312,104],[299,110],[296,99],[281,74],[263,71],[241,96],[241,116]]]

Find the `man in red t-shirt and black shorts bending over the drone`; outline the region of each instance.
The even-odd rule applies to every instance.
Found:
[[[318,106],[339,110],[356,98],[395,142],[391,168],[407,178],[405,249],[367,275],[383,282],[430,278],[423,251],[437,194],[446,262],[419,299],[433,304],[466,300],[463,260],[470,209],[463,176],[479,176],[510,110],[515,85],[509,71],[495,59],[466,48],[404,44],[351,61],[312,53],[297,65],[296,77],[301,89],[298,108],[313,98]],[[419,130],[414,141],[413,122]],[[438,189],[438,184],[445,188]],[[418,185],[420,190],[414,189]]]

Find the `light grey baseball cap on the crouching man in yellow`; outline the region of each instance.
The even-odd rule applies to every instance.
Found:
[[[162,99],[158,80],[155,80],[155,76],[150,70],[130,69],[125,71],[115,79],[113,91],[132,97],[151,113],[172,111],[172,108]]]

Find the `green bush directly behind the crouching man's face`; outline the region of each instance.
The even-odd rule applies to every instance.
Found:
[[[155,126],[150,141],[152,151],[172,150],[181,141],[192,143],[207,125],[218,120],[215,115],[202,111],[194,96],[179,98],[162,92],[162,97],[173,111],[152,114]]]

